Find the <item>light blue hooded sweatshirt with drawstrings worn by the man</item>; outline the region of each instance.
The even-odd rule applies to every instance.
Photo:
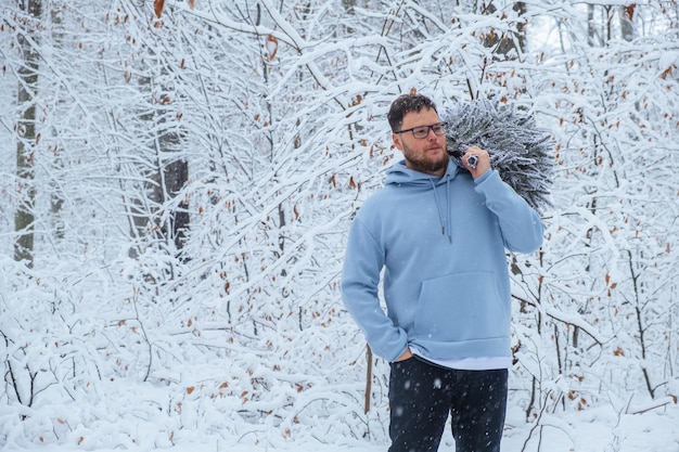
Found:
[[[540,217],[496,170],[474,180],[449,162],[438,178],[401,162],[351,222],[343,299],[389,362],[409,346],[433,360],[509,357],[504,249],[533,253],[541,244]]]

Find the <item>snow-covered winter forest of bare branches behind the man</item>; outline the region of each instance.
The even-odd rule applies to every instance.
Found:
[[[511,450],[590,450],[587,422],[627,451],[625,418],[679,419],[676,0],[0,15],[0,449],[384,450],[388,364],[338,279],[409,91],[554,138],[545,246],[508,255]],[[636,450],[679,427],[658,443]]]

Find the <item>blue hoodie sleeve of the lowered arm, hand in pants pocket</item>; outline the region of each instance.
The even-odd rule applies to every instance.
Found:
[[[408,335],[396,326],[380,305],[380,273],[384,250],[360,218],[349,229],[342,298],[375,354],[393,362],[408,348]]]

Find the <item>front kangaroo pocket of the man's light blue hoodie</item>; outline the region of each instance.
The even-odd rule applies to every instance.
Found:
[[[454,273],[422,283],[414,330],[426,340],[487,339],[509,334],[509,317],[492,272]]]

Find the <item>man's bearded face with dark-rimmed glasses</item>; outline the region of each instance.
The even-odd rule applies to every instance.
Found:
[[[419,112],[409,112],[403,116],[401,130],[421,126],[440,124],[438,114],[433,108],[422,108]],[[441,177],[448,167],[446,152],[446,135],[437,135],[432,129],[425,138],[414,138],[411,131],[393,133],[394,145],[403,153],[406,167],[420,172]]]

